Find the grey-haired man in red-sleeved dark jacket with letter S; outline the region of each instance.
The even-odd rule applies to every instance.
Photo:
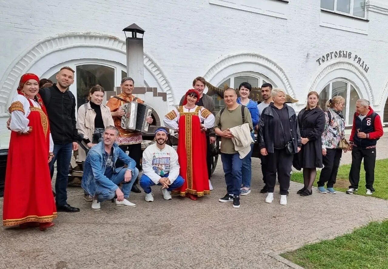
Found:
[[[359,188],[361,162],[364,159],[366,194],[373,194],[376,144],[383,134],[380,116],[369,106],[369,101],[357,100],[349,142],[349,150],[352,150],[352,166],[349,172],[350,186],[346,193],[353,194]]]

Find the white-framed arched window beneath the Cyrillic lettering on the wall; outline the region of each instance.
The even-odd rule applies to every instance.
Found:
[[[345,99],[345,107],[342,114],[345,117],[346,126],[353,124],[353,114],[356,111],[356,102],[360,98],[353,84],[342,78],[334,79],[327,84],[319,94],[319,105],[326,110],[326,101],[340,95]]]

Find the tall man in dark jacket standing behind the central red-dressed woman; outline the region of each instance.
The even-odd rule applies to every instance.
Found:
[[[205,90],[205,79],[203,77],[197,77],[193,80],[193,88],[194,90],[197,90],[199,92],[199,99],[197,100],[196,105],[204,107],[205,109],[209,110],[213,115],[214,114],[214,100],[210,96],[203,94],[203,91]],[[185,96],[183,96],[180,99],[179,105],[183,105],[183,101],[185,99]],[[208,166],[208,176],[209,176],[209,187],[210,190],[213,190],[213,186],[211,186],[210,183],[210,176],[211,176],[211,144],[216,141],[214,129],[210,129],[209,131],[206,131],[206,164]]]

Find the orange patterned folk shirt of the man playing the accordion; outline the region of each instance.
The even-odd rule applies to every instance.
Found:
[[[116,95],[116,96],[123,100],[126,100],[127,102],[133,102],[133,100],[135,99],[135,96],[131,95],[128,97],[124,93],[120,93],[119,95]],[[136,98],[135,101],[137,103],[144,103],[144,101],[141,100],[140,98]],[[109,107],[109,109],[111,109],[111,112],[115,112],[118,109],[120,109],[124,103],[125,103],[124,101],[112,97],[108,100],[108,102],[106,103],[106,106]],[[116,143],[118,143],[118,145],[134,145],[134,144],[142,143],[143,137],[141,133],[130,132],[121,128],[121,117],[113,117],[113,122],[114,122],[114,126],[119,130],[119,135],[116,138]]]

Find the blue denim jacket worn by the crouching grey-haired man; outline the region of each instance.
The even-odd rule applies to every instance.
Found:
[[[128,157],[128,155],[119,148],[116,143],[113,143],[113,172],[118,173],[121,169],[128,169],[132,171],[132,174],[135,173],[136,162]],[[109,178],[107,178],[105,173],[106,163],[105,163],[105,147],[104,142],[100,142],[94,147],[92,147],[85,160],[83,166],[83,176],[81,187],[87,191],[88,194],[94,195],[97,187],[99,185],[109,189],[110,192],[117,190],[118,186],[114,184]],[[124,167],[115,167],[117,159],[123,161],[128,168]]]

